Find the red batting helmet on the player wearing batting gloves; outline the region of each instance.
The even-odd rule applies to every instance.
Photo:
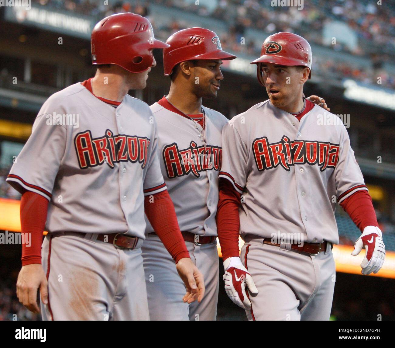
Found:
[[[251,64],[257,64],[257,76],[261,85],[260,62],[289,65],[307,66],[310,69],[308,78],[311,78],[311,47],[299,35],[289,32],[279,32],[269,36],[263,42],[261,57]]]

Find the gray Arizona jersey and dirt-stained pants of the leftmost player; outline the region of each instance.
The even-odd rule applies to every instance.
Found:
[[[144,196],[166,189],[157,151],[150,108],[129,95],[114,108],[77,83],[43,104],[7,181],[50,200],[44,320],[149,319],[140,246]],[[121,250],[100,233],[141,239]]]

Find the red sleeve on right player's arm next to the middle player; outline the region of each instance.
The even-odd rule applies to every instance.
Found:
[[[218,239],[222,250],[222,259],[239,256],[239,206],[241,194],[228,179],[220,178],[219,201],[216,214]]]

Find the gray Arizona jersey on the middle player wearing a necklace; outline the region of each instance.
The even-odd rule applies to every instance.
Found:
[[[190,119],[158,103],[150,106],[158,124],[160,168],[173,200],[181,231],[216,236],[221,132],[228,119],[203,107],[203,141]],[[147,221],[146,232],[153,232]]]

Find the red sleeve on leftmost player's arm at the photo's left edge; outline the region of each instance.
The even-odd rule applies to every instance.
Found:
[[[41,244],[47,220],[48,200],[38,193],[26,191],[21,198],[22,266],[41,263]]]

